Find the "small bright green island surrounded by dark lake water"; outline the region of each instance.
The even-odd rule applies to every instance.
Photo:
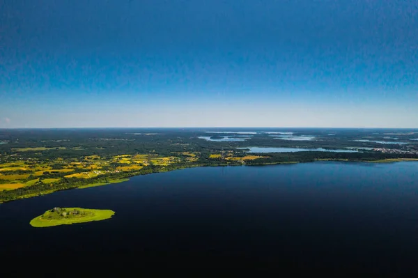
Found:
[[[93,210],[89,208],[53,208],[47,210],[43,215],[35,217],[30,224],[33,227],[43,228],[49,226],[68,225],[101,221],[111,218],[113,210]]]

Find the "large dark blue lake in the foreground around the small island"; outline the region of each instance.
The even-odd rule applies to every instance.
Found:
[[[111,209],[116,215],[102,222],[29,226],[54,206]],[[75,260],[88,262],[97,274],[111,265],[157,265],[405,275],[418,266],[418,163],[157,173],[4,203],[0,223],[0,254],[10,262],[42,258],[51,268],[41,272],[60,267],[56,261]]]

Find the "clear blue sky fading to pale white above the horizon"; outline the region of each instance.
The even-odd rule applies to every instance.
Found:
[[[4,0],[0,128],[418,128],[417,0]]]

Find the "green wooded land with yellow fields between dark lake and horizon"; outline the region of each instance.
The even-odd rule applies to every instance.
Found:
[[[384,139],[380,138],[383,134],[374,138],[376,141],[355,141],[377,137],[373,132],[359,137],[358,132],[338,131],[337,138],[318,130],[308,141],[288,141],[252,132],[247,141],[231,142],[199,139],[205,132],[193,130],[133,133],[132,130],[0,130],[0,137],[8,141],[0,145],[0,203],[59,190],[122,183],[132,176],[190,167],[418,160],[418,141],[412,139],[403,139],[408,141],[403,145],[385,144],[385,148],[376,143]],[[350,149],[354,141],[356,152],[332,152]],[[296,148],[297,152],[249,153],[248,146]],[[323,151],[309,151],[318,148]],[[365,149],[360,151],[361,148]]]

